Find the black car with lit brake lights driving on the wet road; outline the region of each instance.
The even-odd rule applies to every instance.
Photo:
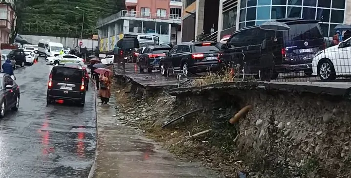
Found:
[[[51,69],[47,85],[46,103],[54,100],[68,100],[84,106],[86,77],[82,68],[55,66]]]

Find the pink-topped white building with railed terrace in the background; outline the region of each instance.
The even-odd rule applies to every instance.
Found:
[[[180,42],[181,0],[125,0],[123,10],[97,23],[100,51],[113,50],[124,35],[157,36],[164,44]]]

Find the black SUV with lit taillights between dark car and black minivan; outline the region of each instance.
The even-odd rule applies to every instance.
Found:
[[[175,45],[160,60],[160,71],[163,76],[169,72],[182,71],[184,75],[204,72],[218,68],[219,48],[213,42],[186,42]]]

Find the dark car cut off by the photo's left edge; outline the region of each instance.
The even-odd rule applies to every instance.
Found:
[[[0,90],[0,118],[2,118],[6,111],[17,111],[20,107],[20,87],[9,75],[0,73]]]

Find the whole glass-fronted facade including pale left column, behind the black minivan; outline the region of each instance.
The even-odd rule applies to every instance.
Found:
[[[336,25],[351,24],[351,0],[220,0],[219,4],[218,40],[235,30],[283,18],[320,20],[326,37],[335,33]]]

